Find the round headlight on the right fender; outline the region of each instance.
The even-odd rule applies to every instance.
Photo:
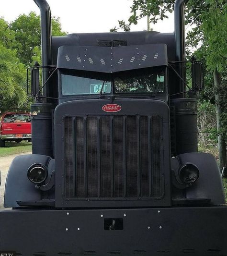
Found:
[[[180,169],[179,177],[182,183],[193,183],[199,178],[199,169],[193,164],[186,164]]]

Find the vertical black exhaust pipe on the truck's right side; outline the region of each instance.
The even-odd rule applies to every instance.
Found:
[[[185,27],[184,27],[184,7],[188,0],[176,0],[174,4],[174,28],[175,28],[175,50],[176,61],[185,61]],[[179,65],[179,74],[185,80],[186,68],[185,64]],[[185,92],[186,86],[179,80],[180,85],[178,92]],[[186,98],[186,94],[181,94],[182,98]]]

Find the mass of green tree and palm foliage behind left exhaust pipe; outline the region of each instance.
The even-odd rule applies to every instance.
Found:
[[[26,67],[41,64],[40,16],[20,15],[11,24],[0,18],[0,112],[29,110]],[[52,18],[52,35],[63,36],[59,18]]]

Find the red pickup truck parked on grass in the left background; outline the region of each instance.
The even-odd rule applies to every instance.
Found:
[[[5,141],[31,141],[31,116],[29,113],[4,113],[0,118],[0,146]]]

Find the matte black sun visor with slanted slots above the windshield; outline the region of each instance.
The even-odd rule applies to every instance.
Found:
[[[167,46],[150,44],[122,47],[61,46],[57,68],[114,73],[167,66]]]

